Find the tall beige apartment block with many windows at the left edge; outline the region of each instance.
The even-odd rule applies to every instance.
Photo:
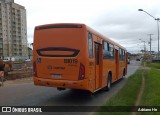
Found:
[[[14,0],[0,0],[0,57],[28,56],[26,9]]]

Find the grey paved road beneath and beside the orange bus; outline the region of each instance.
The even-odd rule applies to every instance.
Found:
[[[0,87],[0,106],[98,106],[105,103],[125,83],[127,77],[133,74],[140,62],[131,61],[128,66],[128,75],[118,83],[113,84],[108,92],[98,91],[90,96],[84,91],[58,91],[52,87],[34,86],[31,78],[24,80],[7,81]]]

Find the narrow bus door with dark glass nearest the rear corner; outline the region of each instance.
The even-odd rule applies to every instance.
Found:
[[[100,45],[94,44],[95,54],[95,89],[100,87]]]

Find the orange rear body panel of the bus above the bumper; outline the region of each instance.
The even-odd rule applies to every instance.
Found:
[[[36,30],[34,61],[37,65],[37,76],[53,80],[78,80],[80,63],[86,63],[84,32],[83,28]],[[72,57],[74,50],[79,53]]]

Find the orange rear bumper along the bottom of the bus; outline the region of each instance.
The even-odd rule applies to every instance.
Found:
[[[60,88],[72,88],[72,89],[88,89],[88,80],[69,81],[69,80],[53,80],[33,77],[34,85],[47,86],[47,87],[60,87]]]

